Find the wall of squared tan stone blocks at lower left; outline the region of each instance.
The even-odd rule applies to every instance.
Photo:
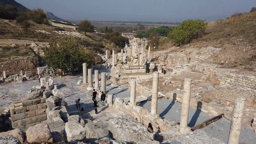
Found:
[[[26,129],[39,123],[45,123],[45,98],[24,98],[10,105],[12,128]]]

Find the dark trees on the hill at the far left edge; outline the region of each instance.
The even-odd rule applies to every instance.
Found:
[[[0,6],[0,18],[14,20],[18,16],[18,8],[9,4]]]

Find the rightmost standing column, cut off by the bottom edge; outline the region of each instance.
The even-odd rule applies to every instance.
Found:
[[[244,116],[244,97],[237,97],[234,106],[234,114],[230,125],[228,144],[238,144]]]

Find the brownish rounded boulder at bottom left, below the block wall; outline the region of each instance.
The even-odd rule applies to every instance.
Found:
[[[26,131],[26,136],[29,143],[53,142],[48,124],[36,124],[29,127]]]

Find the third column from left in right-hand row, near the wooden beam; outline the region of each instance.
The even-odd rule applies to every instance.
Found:
[[[181,116],[180,116],[180,132],[186,134],[188,131],[188,112],[189,112],[189,101],[190,101],[190,90],[191,90],[191,79],[184,79]]]

